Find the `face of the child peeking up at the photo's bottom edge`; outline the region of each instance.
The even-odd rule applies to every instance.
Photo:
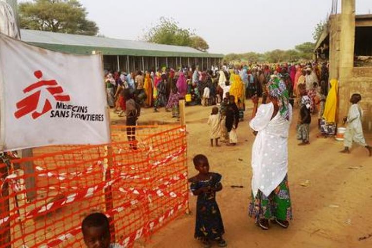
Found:
[[[85,228],[84,243],[87,248],[109,248],[110,233],[102,227]]]

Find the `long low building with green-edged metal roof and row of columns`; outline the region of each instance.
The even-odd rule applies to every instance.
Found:
[[[53,51],[73,54],[103,54],[104,69],[117,71],[151,70],[161,67],[218,66],[223,54],[204,53],[191,47],[155,44],[97,36],[45,31],[20,31],[21,40]]]

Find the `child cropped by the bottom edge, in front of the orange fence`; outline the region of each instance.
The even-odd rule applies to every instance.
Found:
[[[81,230],[87,248],[124,248],[110,244],[110,226],[103,213],[91,213],[84,218]]]

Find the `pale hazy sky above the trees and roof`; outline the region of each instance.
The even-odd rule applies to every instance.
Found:
[[[19,0],[24,1],[24,0]],[[332,0],[80,0],[100,33],[139,39],[159,17],[195,29],[210,53],[292,49],[313,41],[315,25],[327,17]],[[339,0],[340,2],[340,0]],[[340,5],[340,3],[339,3]],[[356,0],[356,13],[372,13],[372,0]]]

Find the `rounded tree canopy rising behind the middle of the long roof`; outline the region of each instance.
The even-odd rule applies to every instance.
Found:
[[[178,22],[172,18],[160,17],[159,23],[148,29],[142,40],[147,42],[188,46],[206,52],[208,43],[200,36],[196,36],[190,29],[179,27]]]

